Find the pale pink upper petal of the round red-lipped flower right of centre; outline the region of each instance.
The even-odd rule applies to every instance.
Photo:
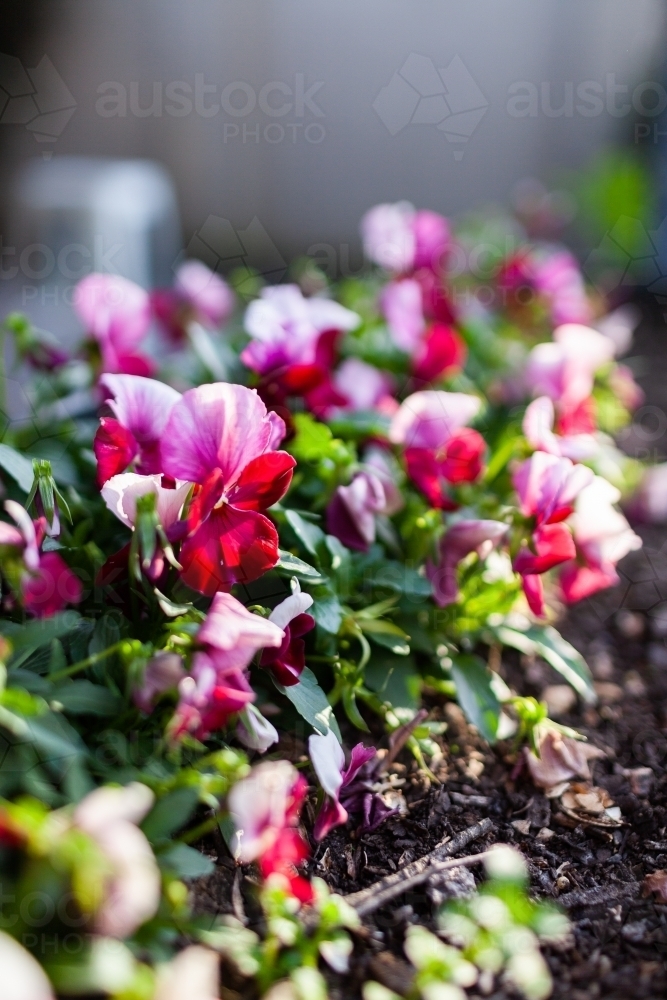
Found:
[[[429,389],[401,404],[389,428],[389,440],[409,448],[438,449],[480,410],[477,396]]]

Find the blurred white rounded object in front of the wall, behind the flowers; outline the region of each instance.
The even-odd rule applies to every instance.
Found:
[[[35,278],[78,281],[92,271],[144,288],[171,285],[181,249],[172,180],[159,163],[83,156],[29,161],[11,192],[11,242]]]

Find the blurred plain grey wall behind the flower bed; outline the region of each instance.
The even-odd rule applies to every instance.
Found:
[[[60,129],[41,141],[18,105],[0,114],[3,232],[11,178],[30,158],[147,157],[174,179],[186,244],[210,216],[241,233],[257,220],[285,259],[324,242],[344,269],[371,205],[456,215],[506,202],[523,177],[633,142],[660,102],[661,0],[0,7],[0,51],[33,71],[52,115],[43,128]],[[44,55],[66,108],[52,77],[39,93]],[[10,77],[0,85],[12,97]]]

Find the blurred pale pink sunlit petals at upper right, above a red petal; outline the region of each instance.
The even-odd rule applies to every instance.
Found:
[[[524,375],[533,396],[548,396],[559,415],[577,409],[591,395],[595,373],[614,357],[609,337],[578,323],[559,326],[553,343],[537,344]]]

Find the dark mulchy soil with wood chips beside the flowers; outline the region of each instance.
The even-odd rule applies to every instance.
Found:
[[[665,328],[649,309],[635,353],[656,361],[645,364],[639,379],[656,412],[667,401],[665,344]],[[645,426],[652,434],[650,420]],[[667,440],[657,433],[659,426],[658,420],[651,442],[657,454]],[[644,448],[645,430],[635,426],[626,445],[635,452]],[[557,901],[572,921],[571,945],[546,951],[556,1000],[667,996],[667,904],[642,894],[645,876],[667,869],[667,530],[637,530],[644,548],[623,562],[622,585],[571,609],[562,624],[593,670],[599,704],[575,704],[557,717],[605,751],[604,759],[592,763],[592,783],[609,792],[623,825],[602,830],[563,816],[525,772],[516,773],[509,742],[489,749],[458,706],[434,699],[427,703],[432,717],[448,724],[442,759],[433,765],[438,782],[403,752],[386,777],[403,797],[404,814],[359,838],[335,830],[316,847],[310,866],[311,874],[335,891],[355,892],[426,854],[443,837],[489,817],[490,835],[464,853],[496,842],[515,845],[528,861],[532,894]],[[543,661],[511,653],[501,673],[516,691],[538,697],[562,684]],[[294,757],[303,750],[294,746]],[[650,770],[632,773],[639,768]],[[474,873],[481,875],[478,869]],[[216,873],[197,886],[200,908],[233,912],[234,880],[233,862],[220,857]],[[245,887],[251,888],[247,882]],[[251,906],[251,894],[244,889],[243,895]],[[440,898],[438,887],[427,885],[366,919],[352,974],[332,983],[331,996],[356,998],[368,978],[402,992],[410,978],[402,951],[406,926],[432,925]],[[237,892],[237,909],[238,902]],[[500,986],[492,994],[493,1000],[510,996],[515,994]]]

